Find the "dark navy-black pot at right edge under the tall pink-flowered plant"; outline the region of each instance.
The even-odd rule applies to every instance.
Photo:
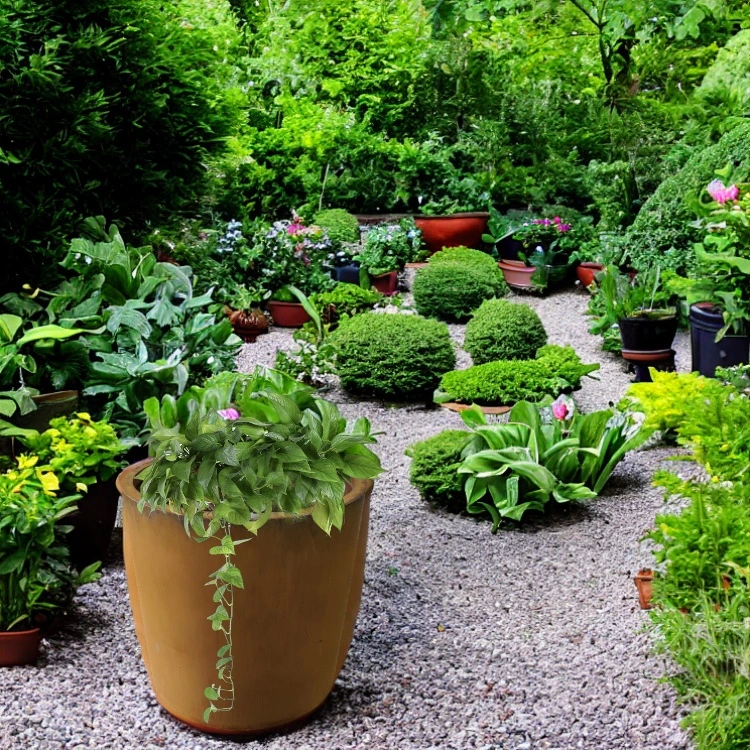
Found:
[[[717,367],[734,367],[750,362],[750,336],[724,336],[716,341],[716,334],[723,327],[721,308],[710,302],[690,306],[693,372],[712,378]]]

